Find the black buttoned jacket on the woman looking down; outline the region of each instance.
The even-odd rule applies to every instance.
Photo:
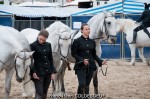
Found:
[[[44,76],[49,73],[56,73],[56,69],[53,64],[51,44],[45,42],[40,44],[37,41],[30,44],[33,53],[34,65],[32,72],[35,72],[38,76]]]

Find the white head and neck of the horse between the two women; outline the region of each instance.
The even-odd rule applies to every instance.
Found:
[[[71,32],[69,26],[65,25],[61,21],[56,21],[51,24],[47,31],[49,32],[48,42],[52,44],[52,51],[59,52],[62,60],[67,60],[71,37],[74,33]]]

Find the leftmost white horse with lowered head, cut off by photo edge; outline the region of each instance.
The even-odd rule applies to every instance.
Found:
[[[26,38],[14,28],[0,26],[0,72],[6,71],[4,99],[9,99],[11,79],[16,71],[18,81],[24,80],[28,86],[31,58],[29,43]],[[28,77],[29,78],[29,77]],[[30,86],[32,88],[32,86]],[[30,90],[28,89],[28,93]]]

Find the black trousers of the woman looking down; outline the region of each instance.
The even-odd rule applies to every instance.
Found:
[[[35,84],[35,99],[46,99],[47,91],[51,82],[51,74],[40,77],[39,80],[33,79]]]

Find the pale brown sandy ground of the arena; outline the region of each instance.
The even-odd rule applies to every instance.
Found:
[[[73,64],[71,65],[73,68]],[[105,71],[106,66],[103,69]],[[0,99],[4,96],[5,71],[0,74]],[[106,97],[104,99],[150,99],[150,66],[136,62],[130,66],[125,60],[108,61],[107,76],[98,73],[99,92]],[[68,95],[76,94],[78,86],[77,78],[73,70],[66,70],[65,89]],[[90,84],[90,93],[93,94],[93,83]],[[52,93],[49,87],[48,99]],[[12,80],[10,99],[23,99],[21,97],[21,84]],[[33,99],[33,98],[31,98]]]

